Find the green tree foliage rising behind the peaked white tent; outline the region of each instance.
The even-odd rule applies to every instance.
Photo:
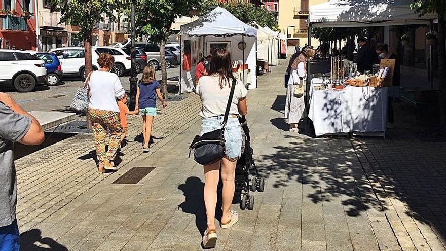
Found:
[[[268,26],[273,30],[280,30],[274,15],[266,8],[255,6],[250,3],[243,3],[241,1],[228,1],[224,3],[214,0],[205,1],[203,3],[203,8],[201,9],[201,15],[210,12],[215,6],[225,8],[244,23],[255,21],[262,27]]]

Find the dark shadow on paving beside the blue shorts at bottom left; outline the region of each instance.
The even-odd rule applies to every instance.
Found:
[[[38,244],[35,244],[35,243]],[[46,245],[49,247],[45,247],[42,245]],[[31,229],[22,234],[20,234],[20,246],[21,250],[27,251],[67,251],[68,249],[62,245],[57,243],[52,238],[42,237],[42,232],[39,229]]]

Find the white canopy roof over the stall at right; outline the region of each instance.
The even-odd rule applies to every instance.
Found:
[[[434,14],[419,17],[413,0],[330,0],[310,7],[313,27],[363,27],[429,23]]]

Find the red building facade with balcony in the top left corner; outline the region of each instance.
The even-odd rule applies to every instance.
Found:
[[[35,50],[35,2],[0,0],[0,48]]]

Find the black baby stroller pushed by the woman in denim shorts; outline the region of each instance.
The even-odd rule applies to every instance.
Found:
[[[240,208],[242,210],[246,208],[252,210],[254,208],[254,195],[250,195],[249,191],[263,192],[265,190],[265,179],[260,177],[254,163],[254,150],[251,147],[251,136],[245,116],[239,116],[239,122],[244,144],[242,144],[242,154],[235,168],[235,194],[240,195]],[[249,178],[249,175],[253,175],[253,177]]]

